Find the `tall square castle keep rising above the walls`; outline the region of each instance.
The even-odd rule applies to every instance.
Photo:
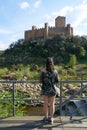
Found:
[[[55,27],[65,27],[65,25],[66,25],[66,19],[65,19],[65,17],[58,16],[55,19]]]

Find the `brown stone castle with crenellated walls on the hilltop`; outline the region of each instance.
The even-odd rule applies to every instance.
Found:
[[[32,30],[25,31],[25,41],[52,38],[58,34],[73,35],[73,28],[70,24],[66,25],[66,18],[58,16],[55,19],[55,27],[49,27],[45,23],[44,28],[32,26]]]

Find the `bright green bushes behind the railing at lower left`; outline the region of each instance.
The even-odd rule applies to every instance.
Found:
[[[20,90],[16,89],[15,91],[15,98],[27,98],[27,94],[21,92]],[[7,100],[8,98],[12,98],[12,91],[9,89],[8,91],[3,90],[0,93],[0,116],[12,116],[13,115],[13,102],[12,99]],[[6,100],[3,100],[6,99]],[[21,106],[27,105],[25,101],[23,100],[17,100],[15,101],[15,110],[16,110],[16,115],[23,116],[23,108]]]

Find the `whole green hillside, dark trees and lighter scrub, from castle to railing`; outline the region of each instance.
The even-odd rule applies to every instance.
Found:
[[[20,39],[0,53],[0,78],[39,78],[48,56],[54,58],[61,77],[72,77],[87,69],[87,37],[58,35],[51,39],[24,41]],[[2,69],[3,68],[3,69]],[[80,72],[80,71],[79,71]]]

